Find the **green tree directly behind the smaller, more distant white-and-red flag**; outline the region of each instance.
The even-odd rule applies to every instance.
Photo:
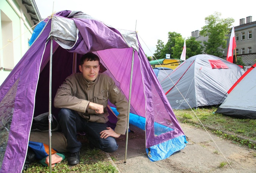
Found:
[[[201,41],[196,41],[196,38],[189,37],[186,40],[186,59],[191,56],[199,55],[203,53],[203,46],[200,44]],[[175,46],[172,47],[173,58],[180,58],[184,46],[184,38],[176,37]]]

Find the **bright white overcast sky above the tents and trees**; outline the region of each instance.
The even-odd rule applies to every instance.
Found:
[[[192,31],[201,30],[205,17],[215,11],[221,13],[221,18],[232,17],[234,26],[248,16],[252,16],[252,21],[256,20],[256,11],[252,8],[256,5],[255,1],[35,0],[35,3],[42,19],[53,11],[74,10],[114,28],[136,29],[140,44],[148,56],[155,52],[158,39],[166,44],[168,32],[180,33],[183,38],[190,37]]]

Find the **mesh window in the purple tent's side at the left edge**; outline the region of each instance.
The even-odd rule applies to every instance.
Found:
[[[17,80],[14,85],[10,88],[8,93],[0,102],[0,167],[2,167],[2,162],[5,156],[5,150],[7,146],[7,141],[9,137],[9,131],[14,111],[14,102],[17,92],[19,80]]]

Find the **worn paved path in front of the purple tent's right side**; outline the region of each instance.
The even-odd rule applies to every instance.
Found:
[[[188,144],[167,159],[149,161],[145,151],[145,132],[132,125],[130,129],[134,133],[129,133],[126,163],[124,135],[117,139],[118,150],[109,155],[116,158],[114,164],[120,173],[256,173],[256,159],[253,158],[255,150],[252,152],[209,132],[211,138],[203,129],[183,123],[180,125],[188,138]],[[223,168],[219,167],[221,162],[227,161],[232,168],[228,164]]]

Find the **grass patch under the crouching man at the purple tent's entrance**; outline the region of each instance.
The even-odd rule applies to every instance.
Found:
[[[106,155],[103,151],[98,149],[89,149],[89,145],[87,144],[85,137],[80,136],[79,139],[83,142],[80,153],[80,163],[75,166],[70,166],[68,165],[66,157],[60,163],[57,163],[54,167],[52,167],[52,173],[118,173],[118,170],[111,164],[111,162],[106,161]],[[45,167],[39,162],[33,162],[29,165],[29,168],[23,172],[48,173],[49,167]]]

